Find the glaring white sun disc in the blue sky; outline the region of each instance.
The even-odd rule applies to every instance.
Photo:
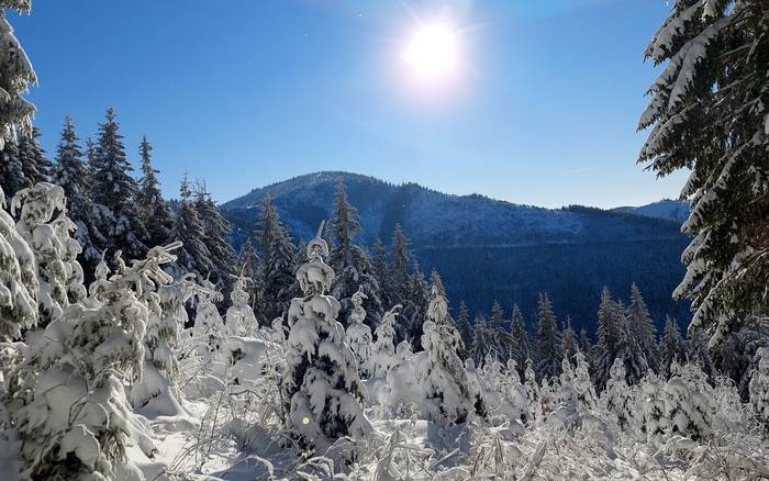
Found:
[[[403,53],[403,59],[414,76],[431,81],[454,72],[457,68],[457,35],[444,23],[420,26]]]

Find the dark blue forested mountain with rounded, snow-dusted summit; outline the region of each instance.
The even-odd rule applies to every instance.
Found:
[[[578,328],[594,328],[601,288],[627,298],[640,287],[659,326],[666,314],[688,318],[688,305],[670,294],[683,277],[680,254],[688,240],[677,222],[572,205],[543,209],[483,195],[450,195],[415,183],[393,184],[347,172],[317,172],[260,189],[222,205],[236,248],[256,228],[259,202],[271,195],[296,239],[315,235],[330,219],[336,183],[358,209],[358,242],[388,245],[395,224],[412,242],[422,269],[435,267],[455,305],[464,299],[477,314],[494,300],[517,302],[532,324],[538,292]]]

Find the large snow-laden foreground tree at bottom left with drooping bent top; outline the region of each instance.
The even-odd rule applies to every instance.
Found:
[[[140,287],[166,281],[160,266],[171,260],[168,249],[153,248],[31,338],[24,369],[38,374],[16,392],[24,477],[115,479],[116,462],[136,443],[123,383],[142,376],[148,312]]]

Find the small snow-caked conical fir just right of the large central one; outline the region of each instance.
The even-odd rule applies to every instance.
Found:
[[[417,371],[425,391],[423,412],[431,420],[443,418],[449,423],[462,423],[469,413],[482,415],[486,409],[477,403],[464,363],[457,356],[461,339],[448,316],[448,303],[435,286],[431,288],[423,329],[423,363]]]

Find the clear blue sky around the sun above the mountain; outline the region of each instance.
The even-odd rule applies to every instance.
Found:
[[[675,197],[635,165],[643,63],[662,0],[133,0],[33,2],[10,15],[40,77],[52,152],[114,107],[167,194],[188,172],[226,201],[296,175],[349,170],[449,193],[560,206]],[[415,87],[417,22],[458,31],[452,88]],[[437,93],[436,93],[437,92]]]

